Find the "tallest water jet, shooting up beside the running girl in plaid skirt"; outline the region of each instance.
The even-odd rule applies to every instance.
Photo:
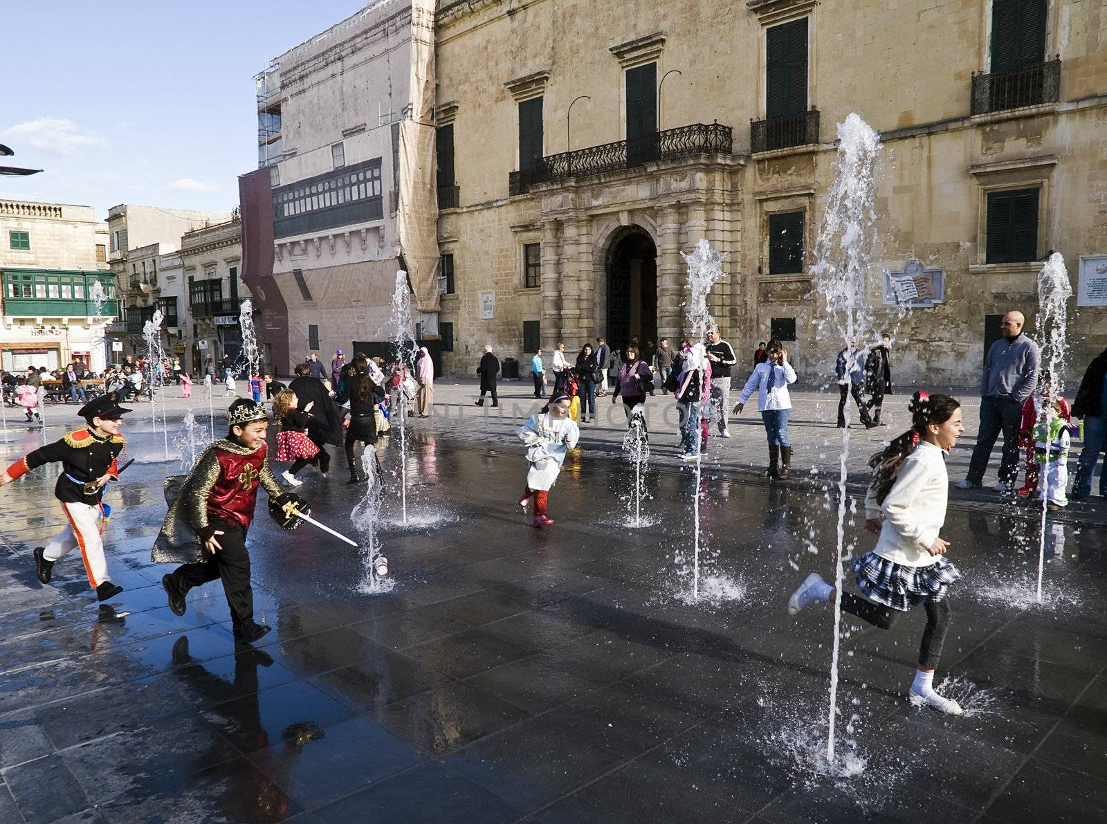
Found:
[[[876,245],[876,166],[880,156],[877,132],[851,113],[838,124],[837,172],[827,195],[823,225],[815,244],[811,267],[815,291],[826,303],[819,321],[823,340],[839,339],[847,352],[856,341],[869,340],[875,326],[872,293],[877,282],[872,254]],[[847,362],[847,380],[852,363]],[[838,463],[838,540],[835,555],[834,651],[830,659],[830,708],[827,722],[827,763],[835,762],[835,722],[838,707],[838,658],[841,643],[841,590],[845,563],[852,554],[846,546],[845,523],[847,462],[849,459],[849,406],[841,431]]]

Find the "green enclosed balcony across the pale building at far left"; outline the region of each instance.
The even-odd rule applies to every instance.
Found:
[[[3,270],[3,313],[9,318],[112,318],[118,308],[110,271]]]

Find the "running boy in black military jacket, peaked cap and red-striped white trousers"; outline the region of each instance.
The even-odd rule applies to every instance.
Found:
[[[0,475],[0,486],[4,486],[43,464],[62,464],[54,497],[61,503],[69,524],[49,545],[34,548],[35,575],[40,581],[49,584],[54,564],[66,553],[80,548],[89,584],[102,601],[123,591],[107,574],[101,538],[101,498],[107,482],[118,477],[116,459],[124,446],[120,430],[123,415],[131,411],[120,406],[118,401],[118,393],[107,392],[84,404],[77,414],[87,422],[86,428],[24,455]]]

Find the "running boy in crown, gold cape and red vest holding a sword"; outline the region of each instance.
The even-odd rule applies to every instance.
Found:
[[[252,643],[270,629],[254,620],[246,549],[258,486],[269,493],[269,513],[286,529],[300,524],[293,509],[308,514],[309,507],[303,498],[286,493],[269,468],[265,404],[237,400],[227,410],[227,436],[204,450],[179,492],[174,488],[177,478],[166,482],[169,512],[151,557],[158,564],[180,564],[162,578],[176,615],[185,614],[189,589],[221,579],[235,638]]]

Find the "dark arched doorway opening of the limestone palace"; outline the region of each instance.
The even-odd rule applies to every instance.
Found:
[[[633,336],[658,340],[658,248],[639,226],[619,230],[607,255],[608,343],[623,349]]]

